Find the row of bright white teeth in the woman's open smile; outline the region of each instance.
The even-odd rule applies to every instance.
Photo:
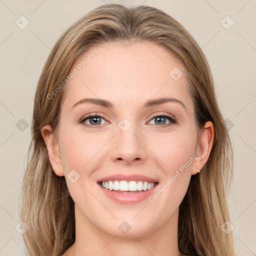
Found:
[[[120,190],[120,191],[141,191],[149,190],[153,188],[155,182],[147,181],[126,181],[126,180],[114,180],[114,181],[102,181],[101,186],[108,190]]]

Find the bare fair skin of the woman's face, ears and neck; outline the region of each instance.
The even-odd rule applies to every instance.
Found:
[[[73,67],[93,48],[82,53]],[[197,138],[185,69],[163,47],[151,42],[105,42],[96,48],[99,53],[66,85],[57,129],[53,131],[49,124],[41,129],[52,168],[56,175],[65,176],[75,202],[75,246],[63,255],[178,256],[178,207],[191,175],[208,159],[213,124],[206,122]],[[183,72],[176,81],[169,75],[173,67]],[[72,108],[85,97],[106,99],[113,108],[92,103]],[[160,97],[179,99],[186,110],[177,102],[142,107]],[[78,123],[95,112],[103,117],[98,121],[101,127]],[[163,119],[170,125],[162,127],[153,114],[169,114],[176,123]],[[127,131],[118,127],[122,118],[131,123]],[[93,120],[85,122],[93,125]],[[161,186],[196,151],[200,156],[154,202],[147,198],[119,204],[96,184],[107,175],[138,173],[156,178]],[[74,183],[66,176],[72,169],[80,174]],[[131,226],[126,234],[118,229],[123,221]]]

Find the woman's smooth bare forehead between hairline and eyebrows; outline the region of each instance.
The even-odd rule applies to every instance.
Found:
[[[95,97],[127,106],[135,100],[142,104],[165,96],[191,103],[183,65],[167,49],[152,42],[92,46],[76,59],[71,71],[74,69],[76,74],[63,100],[68,104]]]

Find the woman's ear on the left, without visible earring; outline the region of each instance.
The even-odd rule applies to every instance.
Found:
[[[51,167],[57,176],[64,176],[63,165],[61,162],[59,144],[52,128],[49,124],[41,128],[41,134],[47,147]]]

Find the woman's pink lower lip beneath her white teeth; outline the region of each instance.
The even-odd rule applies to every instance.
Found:
[[[134,193],[129,192],[129,193],[122,193],[122,192],[117,192],[115,190],[108,190],[103,188],[100,184],[99,187],[101,188],[102,192],[112,199],[115,202],[118,203],[124,203],[124,204],[134,204],[138,203],[146,198],[148,198],[157,188],[159,183],[155,184],[153,188],[149,190],[142,190],[142,191],[134,191]]]

